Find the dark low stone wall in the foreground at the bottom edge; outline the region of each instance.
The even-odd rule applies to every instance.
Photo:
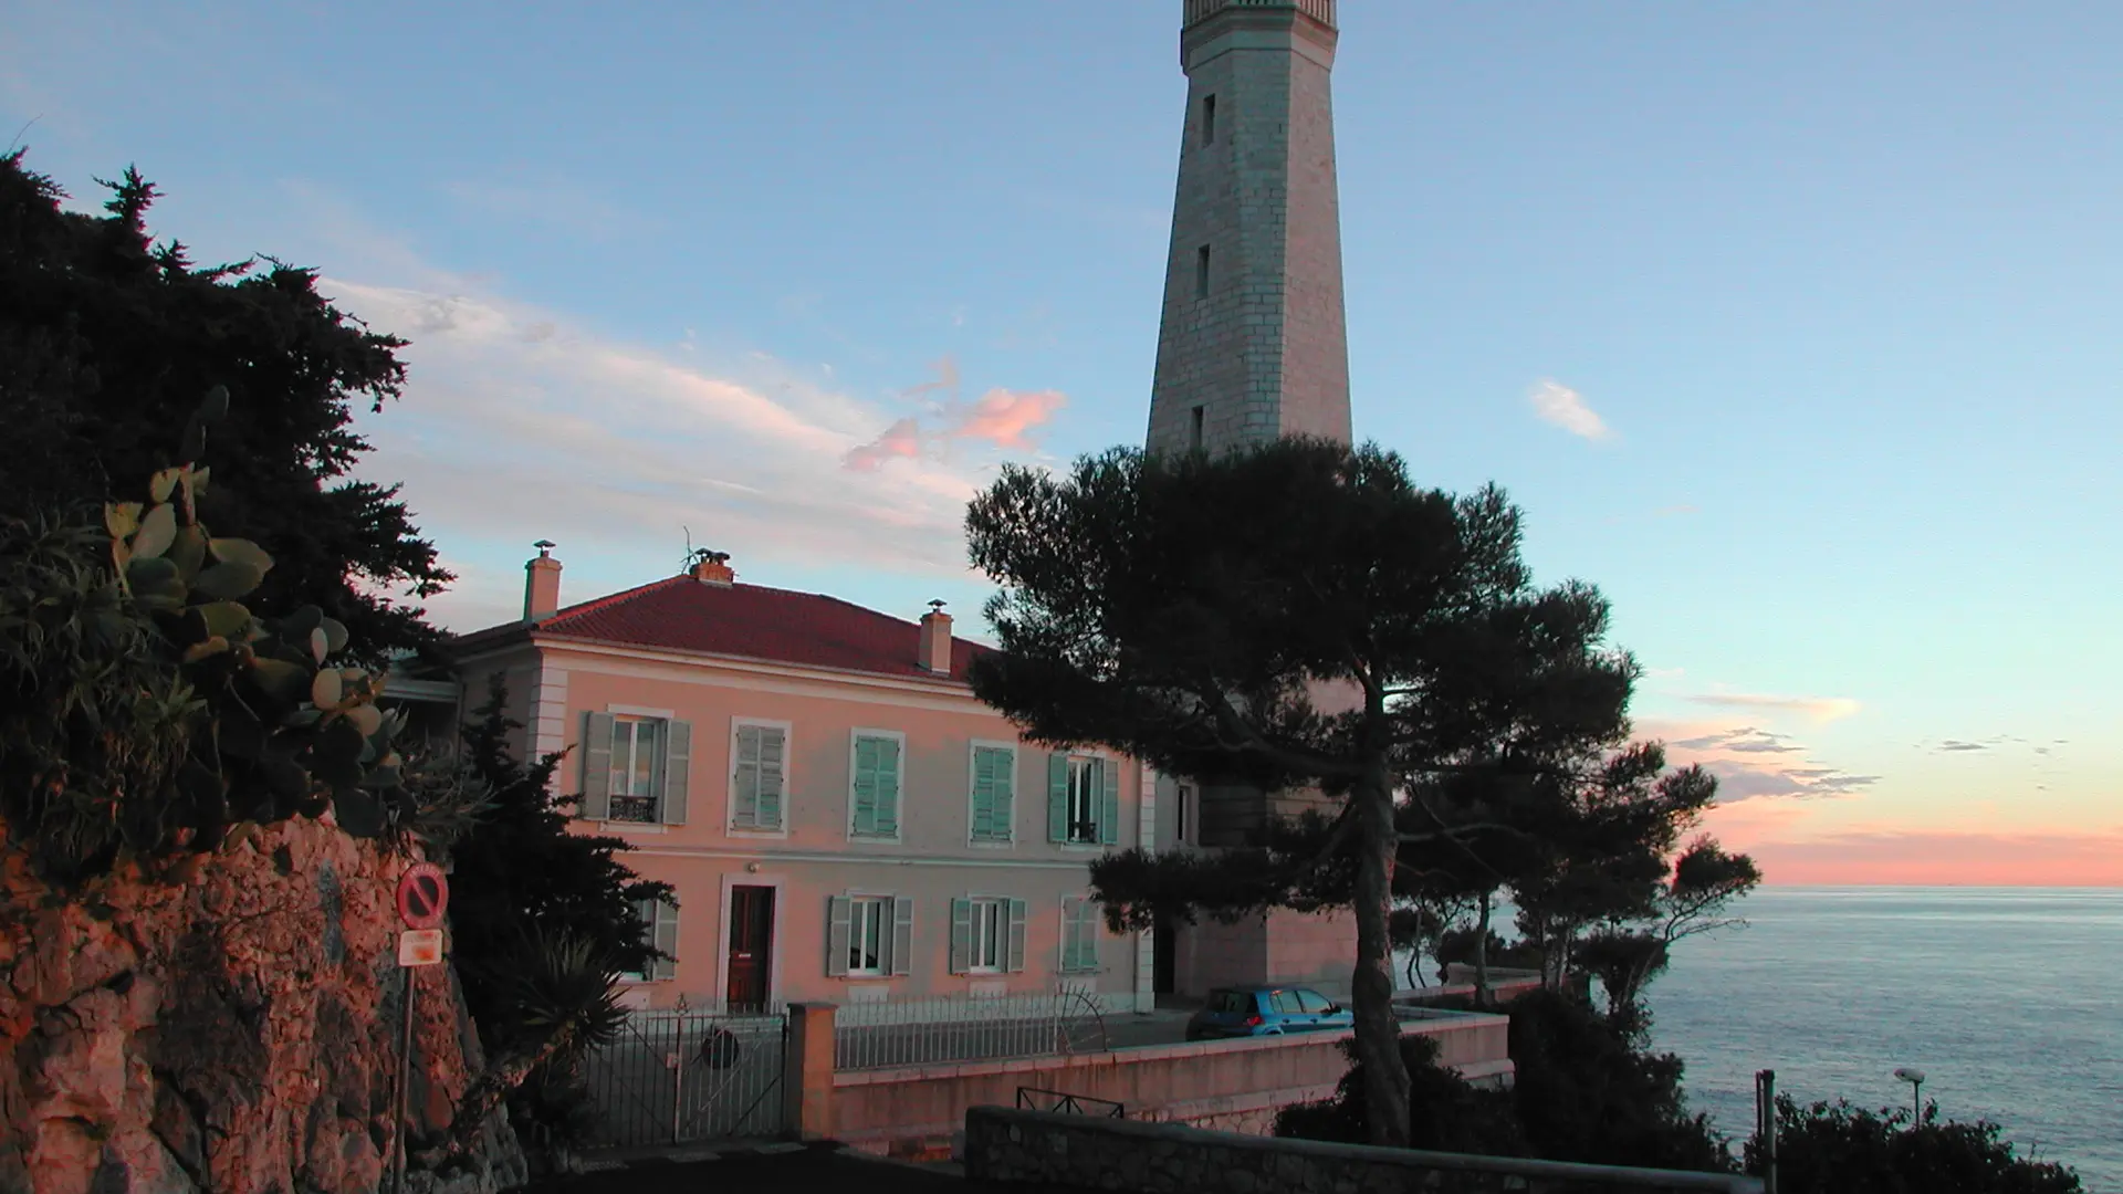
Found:
[[[1760,1194],[1756,1177],[1329,1145],[974,1107],[966,1177],[1144,1194]]]

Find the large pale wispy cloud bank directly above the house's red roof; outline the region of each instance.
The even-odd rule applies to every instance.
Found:
[[[461,278],[321,289],[412,340],[405,402],[363,419],[378,448],[363,472],[403,482],[456,557],[552,538],[573,561],[669,548],[675,565],[688,527],[741,563],[964,576],[966,501],[1059,408],[970,404],[947,427],[966,448],[936,455],[913,421],[819,385],[815,365],[624,342]],[[864,448],[904,463],[843,465]],[[465,567],[435,614],[467,629],[505,610],[522,582],[493,572]]]

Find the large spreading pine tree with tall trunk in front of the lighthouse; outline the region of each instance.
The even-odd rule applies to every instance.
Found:
[[[1620,746],[1637,667],[1588,584],[1533,584],[1497,489],[1420,489],[1376,446],[1129,448],[1008,467],[966,516],[1000,652],[974,693],[1047,744],[1104,744],[1204,784],[1314,788],[1335,812],[1221,856],[1093,867],[1117,924],[1352,907],[1369,1126],[1405,1143],[1391,931],[1401,848],[1512,824],[1431,816],[1410,784],[1537,782]]]

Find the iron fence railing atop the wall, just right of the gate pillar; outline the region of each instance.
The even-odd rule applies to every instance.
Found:
[[[1104,1052],[1106,1020],[1081,992],[847,1003],[834,1016],[834,1069],[894,1069]]]

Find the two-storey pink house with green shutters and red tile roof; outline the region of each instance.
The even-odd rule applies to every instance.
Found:
[[[633,1003],[1151,1005],[1151,941],[1106,933],[1087,871],[1153,826],[1144,767],[1021,741],[940,608],[739,584],[720,557],[560,608],[560,561],[527,572],[524,618],[454,646],[465,703],[501,673],[522,748],[569,750],[584,831],[675,888],[650,916],[675,960]]]

